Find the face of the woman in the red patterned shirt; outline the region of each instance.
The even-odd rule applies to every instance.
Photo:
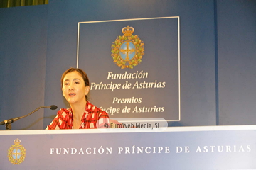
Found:
[[[80,103],[86,101],[85,95],[88,94],[90,87],[85,86],[85,81],[78,72],[69,72],[63,79],[63,96],[68,103]]]

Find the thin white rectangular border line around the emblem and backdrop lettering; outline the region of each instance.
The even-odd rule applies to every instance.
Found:
[[[181,121],[181,40],[180,40],[181,32],[180,32],[179,16],[78,22],[77,68],[78,68],[78,60],[79,60],[79,37],[80,37],[80,24],[81,23],[106,23],[106,22],[117,22],[117,21],[138,21],[138,20],[167,19],[167,18],[178,18],[178,119],[177,120],[166,120],[166,121],[171,122],[171,121]]]

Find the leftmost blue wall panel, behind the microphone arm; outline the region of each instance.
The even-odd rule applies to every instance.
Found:
[[[48,6],[0,9],[0,121],[43,106]],[[43,109],[12,124],[41,129]],[[4,130],[4,126],[0,126]]]

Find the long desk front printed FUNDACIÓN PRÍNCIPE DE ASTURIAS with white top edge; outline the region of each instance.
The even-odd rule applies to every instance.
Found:
[[[0,169],[256,169],[256,126],[0,131]]]

